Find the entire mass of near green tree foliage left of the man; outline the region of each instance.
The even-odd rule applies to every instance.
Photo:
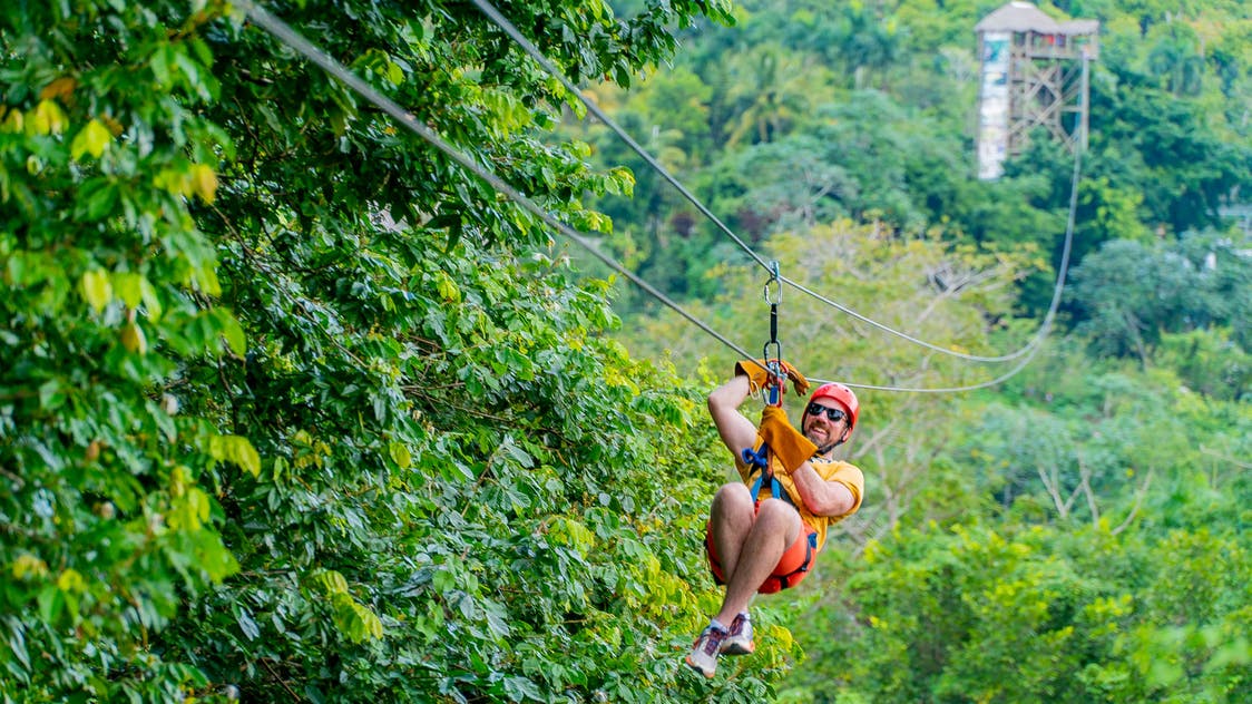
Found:
[[[556,217],[627,183],[472,8],[274,10]],[[623,83],[729,19],[508,10]],[[702,391],[533,217],[220,3],[21,4],[0,56],[0,699],[707,691]]]

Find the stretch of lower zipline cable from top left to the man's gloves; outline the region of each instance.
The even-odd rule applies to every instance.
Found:
[[[371,86],[364,80],[359,79],[352,71],[349,71],[347,66],[331,58],[329,54],[314,46],[310,41],[304,39],[299,33],[297,33],[294,29],[287,25],[287,23],[269,14],[269,11],[257,5],[253,0],[237,0],[237,4],[239,8],[244,10],[244,13],[247,13],[247,15],[254,23],[257,23],[257,25],[259,25],[262,29],[274,35],[275,39],[290,46],[299,54],[304,55],[308,60],[313,61],[323,70],[326,70],[328,74],[341,80],[344,85],[354,90],[362,98],[373,103],[382,111],[399,120],[402,125],[407,127],[414,134],[428,142],[431,145],[436,147],[439,152],[443,152],[448,158],[461,164],[478,178],[487,182],[497,192],[505,194],[506,197],[508,197],[508,199],[513,200],[522,208],[530,210],[533,215],[536,215],[548,225],[556,228],[558,232],[561,232],[561,234],[572,239],[575,243],[577,243],[583,249],[590,252],[593,257],[600,259],[605,266],[630,279],[635,286],[642,288],[645,292],[647,292],[654,298],[667,306],[670,309],[686,318],[686,321],[690,322],[691,324],[705,331],[706,333],[712,336],[715,339],[717,339],[726,347],[730,347],[731,349],[741,355],[745,360],[752,358],[750,353],[740,348],[730,339],[722,337],[720,333],[717,333],[717,331],[712,329],[711,327],[705,324],[702,321],[700,321],[691,313],[682,309],[682,307],[680,307],[674,301],[670,301],[669,297],[666,297],[664,293],[654,288],[650,283],[636,276],[626,267],[617,263],[611,257],[601,253],[596,248],[596,246],[591,243],[591,241],[578,234],[573,228],[562,223],[561,220],[557,220],[555,217],[552,217],[552,214],[550,214],[547,210],[545,210],[542,207],[531,200],[528,197],[523,195],[513,187],[508,185],[503,179],[501,179],[496,174],[473,163],[468,157],[463,155],[459,150],[457,150],[457,148],[452,147],[433,130],[419,123],[412,114],[404,111],[404,109],[401,108],[399,104],[374,90],[373,86]]]

